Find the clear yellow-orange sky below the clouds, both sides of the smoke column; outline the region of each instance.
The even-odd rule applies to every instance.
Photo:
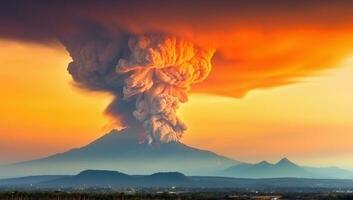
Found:
[[[0,46],[0,163],[82,146],[109,130],[102,112],[111,97],[70,84],[62,47]],[[179,111],[189,126],[182,141],[249,162],[288,156],[353,169],[352,66],[353,54],[321,76],[241,99],[193,94]]]

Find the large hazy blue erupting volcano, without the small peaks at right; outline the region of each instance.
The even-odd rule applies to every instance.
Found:
[[[139,143],[134,129],[112,130],[92,143],[46,158],[6,165],[0,177],[76,174],[87,169],[117,170],[130,174],[179,171],[204,175],[239,164],[210,151],[181,142]]]

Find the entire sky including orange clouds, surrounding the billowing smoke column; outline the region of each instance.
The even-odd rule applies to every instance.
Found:
[[[167,32],[216,49],[208,78],[192,86],[178,110],[188,125],[182,142],[246,162],[288,157],[353,169],[349,1],[191,1],[175,5],[175,12],[159,1],[146,10],[136,2],[54,2],[55,10],[22,2],[1,12],[7,26],[0,27],[0,163],[79,147],[115,127],[104,113],[113,95],[77,87],[67,66],[72,38],[101,39],[91,29],[116,37],[111,29],[119,27],[129,34]],[[126,19],[123,8],[138,14]],[[28,17],[36,9],[44,11]],[[67,15],[73,13],[85,22]]]

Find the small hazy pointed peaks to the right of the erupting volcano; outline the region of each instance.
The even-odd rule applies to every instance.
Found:
[[[302,167],[287,158],[275,164],[262,161],[257,164],[238,164],[220,173],[223,176],[238,178],[353,178],[353,172],[339,168]]]

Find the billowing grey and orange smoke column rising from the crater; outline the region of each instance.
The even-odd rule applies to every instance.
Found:
[[[63,43],[73,58],[68,70],[74,81],[113,93],[107,112],[122,125],[141,127],[147,143],[181,138],[187,128],[177,109],[190,86],[209,74],[213,49],[159,34],[103,34]]]

